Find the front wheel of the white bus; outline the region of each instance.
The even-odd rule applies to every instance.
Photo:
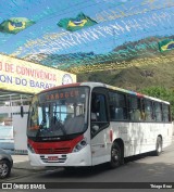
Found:
[[[115,142],[111,148],[111,162],[110,167],[116,168],[122,164],[122,150],[120,145]]]

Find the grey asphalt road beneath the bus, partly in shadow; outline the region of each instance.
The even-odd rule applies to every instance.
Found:
[[[7,179],[5,182],[29,182],[29,183],[59,182],[61,184],[63,183],[65,188],[70,188],[70,189],[54,190],[59,192],[60,191],[64,191],[64,192],[66,191],[71,191],[71,192],[149,191],[147,189],[134,189],[134,187],[129,187],[128,184],[130,183],[134,184],[134,182],[135,183],[149,182],[151,184],[153,183],[156,184],[157,182],[162,182],[163,184],[166,184],[166,182],[173,182],[174,184],[174,142],[171,146],[167,146],[160,156],[144,154],[135,157],[129,157],[125,159],[125,164],[123,166],[116,169],[109,169],[108,165],[100,165],[91,168],[77,168],[74,171],[65,171],[63,168],[50,168],[50,169],[38,169],[38,170],[13,169],[12,176],[9,179]],[[105,182],[112,182],[112,183],[105,183]],[[128,185],[127,188],[130,189],[129,190],[114,189],[116,188],[115,185],[119,182],[130,182],[127,184]],[[75,188],[79,188],[79,189],[71,189],[71,187],[74,183],[77,183],[75,184]],[[157,187],[154,187],[153,191],[156,191]],[[100,189],[95,189],[95,188],[100,188]],[[113,188],[113,189],[108,190],[109,188]],[[126,188],[126,183],[125,185],[123,185],[123,188]],[[26,190],[21,190],[21,191],[26,191]],[[53,190],[47,190],[47,191],[53,191]],[[171,191],[171,190],[163,189],[163,191]],[[172,191],[174,191],[174,189]]]

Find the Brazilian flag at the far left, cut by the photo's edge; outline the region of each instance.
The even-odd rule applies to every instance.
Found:
[[[25,17],[12,17],[7,21],[3,21],[0,24],[0,31],[8,34],[17,34],[33,24],[35,24],[35,22]]]

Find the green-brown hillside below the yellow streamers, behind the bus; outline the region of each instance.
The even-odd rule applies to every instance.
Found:
[[[77,80],[101,81],[134,91],[151,86],[174,89],[174,61],[115,71],[78,74]]]

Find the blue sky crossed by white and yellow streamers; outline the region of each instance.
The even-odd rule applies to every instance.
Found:
[[[76,31],[57,25],[79,13],[97,24]],[[16,57],[105,54],[125,42],[174,35],[174,0],[1,0],[0,23],[11,17],[35,22],[15,35],[0,31],[0,53]]]

